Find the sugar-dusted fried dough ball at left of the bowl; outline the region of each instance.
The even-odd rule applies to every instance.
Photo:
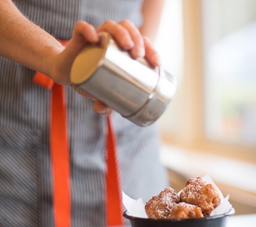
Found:
[[[145,210],[149,218],[166,218],[179,202],[179,196],[172,188],[165,188],[158,195],[153,196],[145,205]]]

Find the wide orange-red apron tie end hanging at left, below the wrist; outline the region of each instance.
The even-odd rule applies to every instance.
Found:
[[[71,226],[70,153],[65,87],[54,83],[51,98],[50,148],[53,172],[53,207],[56,227]]]

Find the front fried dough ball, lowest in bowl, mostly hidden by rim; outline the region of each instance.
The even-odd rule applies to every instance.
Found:
[[[171,214],[167,218],[190,218],[190,217],[204,217],[202,209],[196,205],[188,203],[177,203],[171,210]]]

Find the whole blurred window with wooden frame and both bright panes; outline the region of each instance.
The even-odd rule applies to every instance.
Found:
[[[156,47],[178,88],[163,141],[256,162],[256,1],[166,4]]]

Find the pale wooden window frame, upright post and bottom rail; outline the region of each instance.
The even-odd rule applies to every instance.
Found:
[[[210,152],[225,157],[256,162],[256,147],[241,144],[225,144],[206,137],[204,122],[204,53],[202,0],[182,0],[184,73],[181,84],[182,100],[178,130],[163,132],[167,144],[186,150]],[[181,120],[182,119],[182,120]]]

